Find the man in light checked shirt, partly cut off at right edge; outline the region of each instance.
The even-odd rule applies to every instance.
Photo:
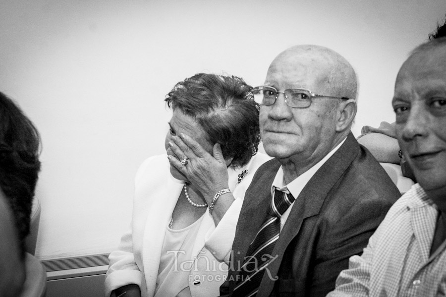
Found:
[[[328,297],[446,296],[446,37],[403,63],[392,106],[418,183],[390,208],[362,256],[350,258]]]

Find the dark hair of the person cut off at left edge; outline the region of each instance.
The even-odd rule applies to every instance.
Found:
[[[0,187],[14,212],[22,256],[40,171],[40,136],[20,108],[0,92]]]

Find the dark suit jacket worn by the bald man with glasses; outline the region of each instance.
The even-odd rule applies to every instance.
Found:
[[[265,163],[246,191],[222,295],[232,293],[237,267],[265,221],[279,167],[275,159]],[[271,280],[266,271],[257,297],[325,297],[399,196],[381,165],[350,133],[296,198],[273,252],[278,258],[268,266],[279,279]]]

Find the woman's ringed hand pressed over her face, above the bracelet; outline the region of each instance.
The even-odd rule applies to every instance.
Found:
[[[168,156],[170,164],[185,175],[210,204],[218,191],[228,187],[227,166],[220,144],[214,145],[211,155],[198,142],[183,133],[180,137],[172,136],[171,139],[169,147],[177,158]],[[184,158],[188,159],[186,165],[181,164]]]

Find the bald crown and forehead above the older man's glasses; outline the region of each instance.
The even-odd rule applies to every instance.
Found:
[[[312,92],[356,100],[357,79],[353,67],[329,48],[316,45],[288,48],[273,60],[268,74],[278,70],[295,76],[296,80],[311,78],[321,88]]]

